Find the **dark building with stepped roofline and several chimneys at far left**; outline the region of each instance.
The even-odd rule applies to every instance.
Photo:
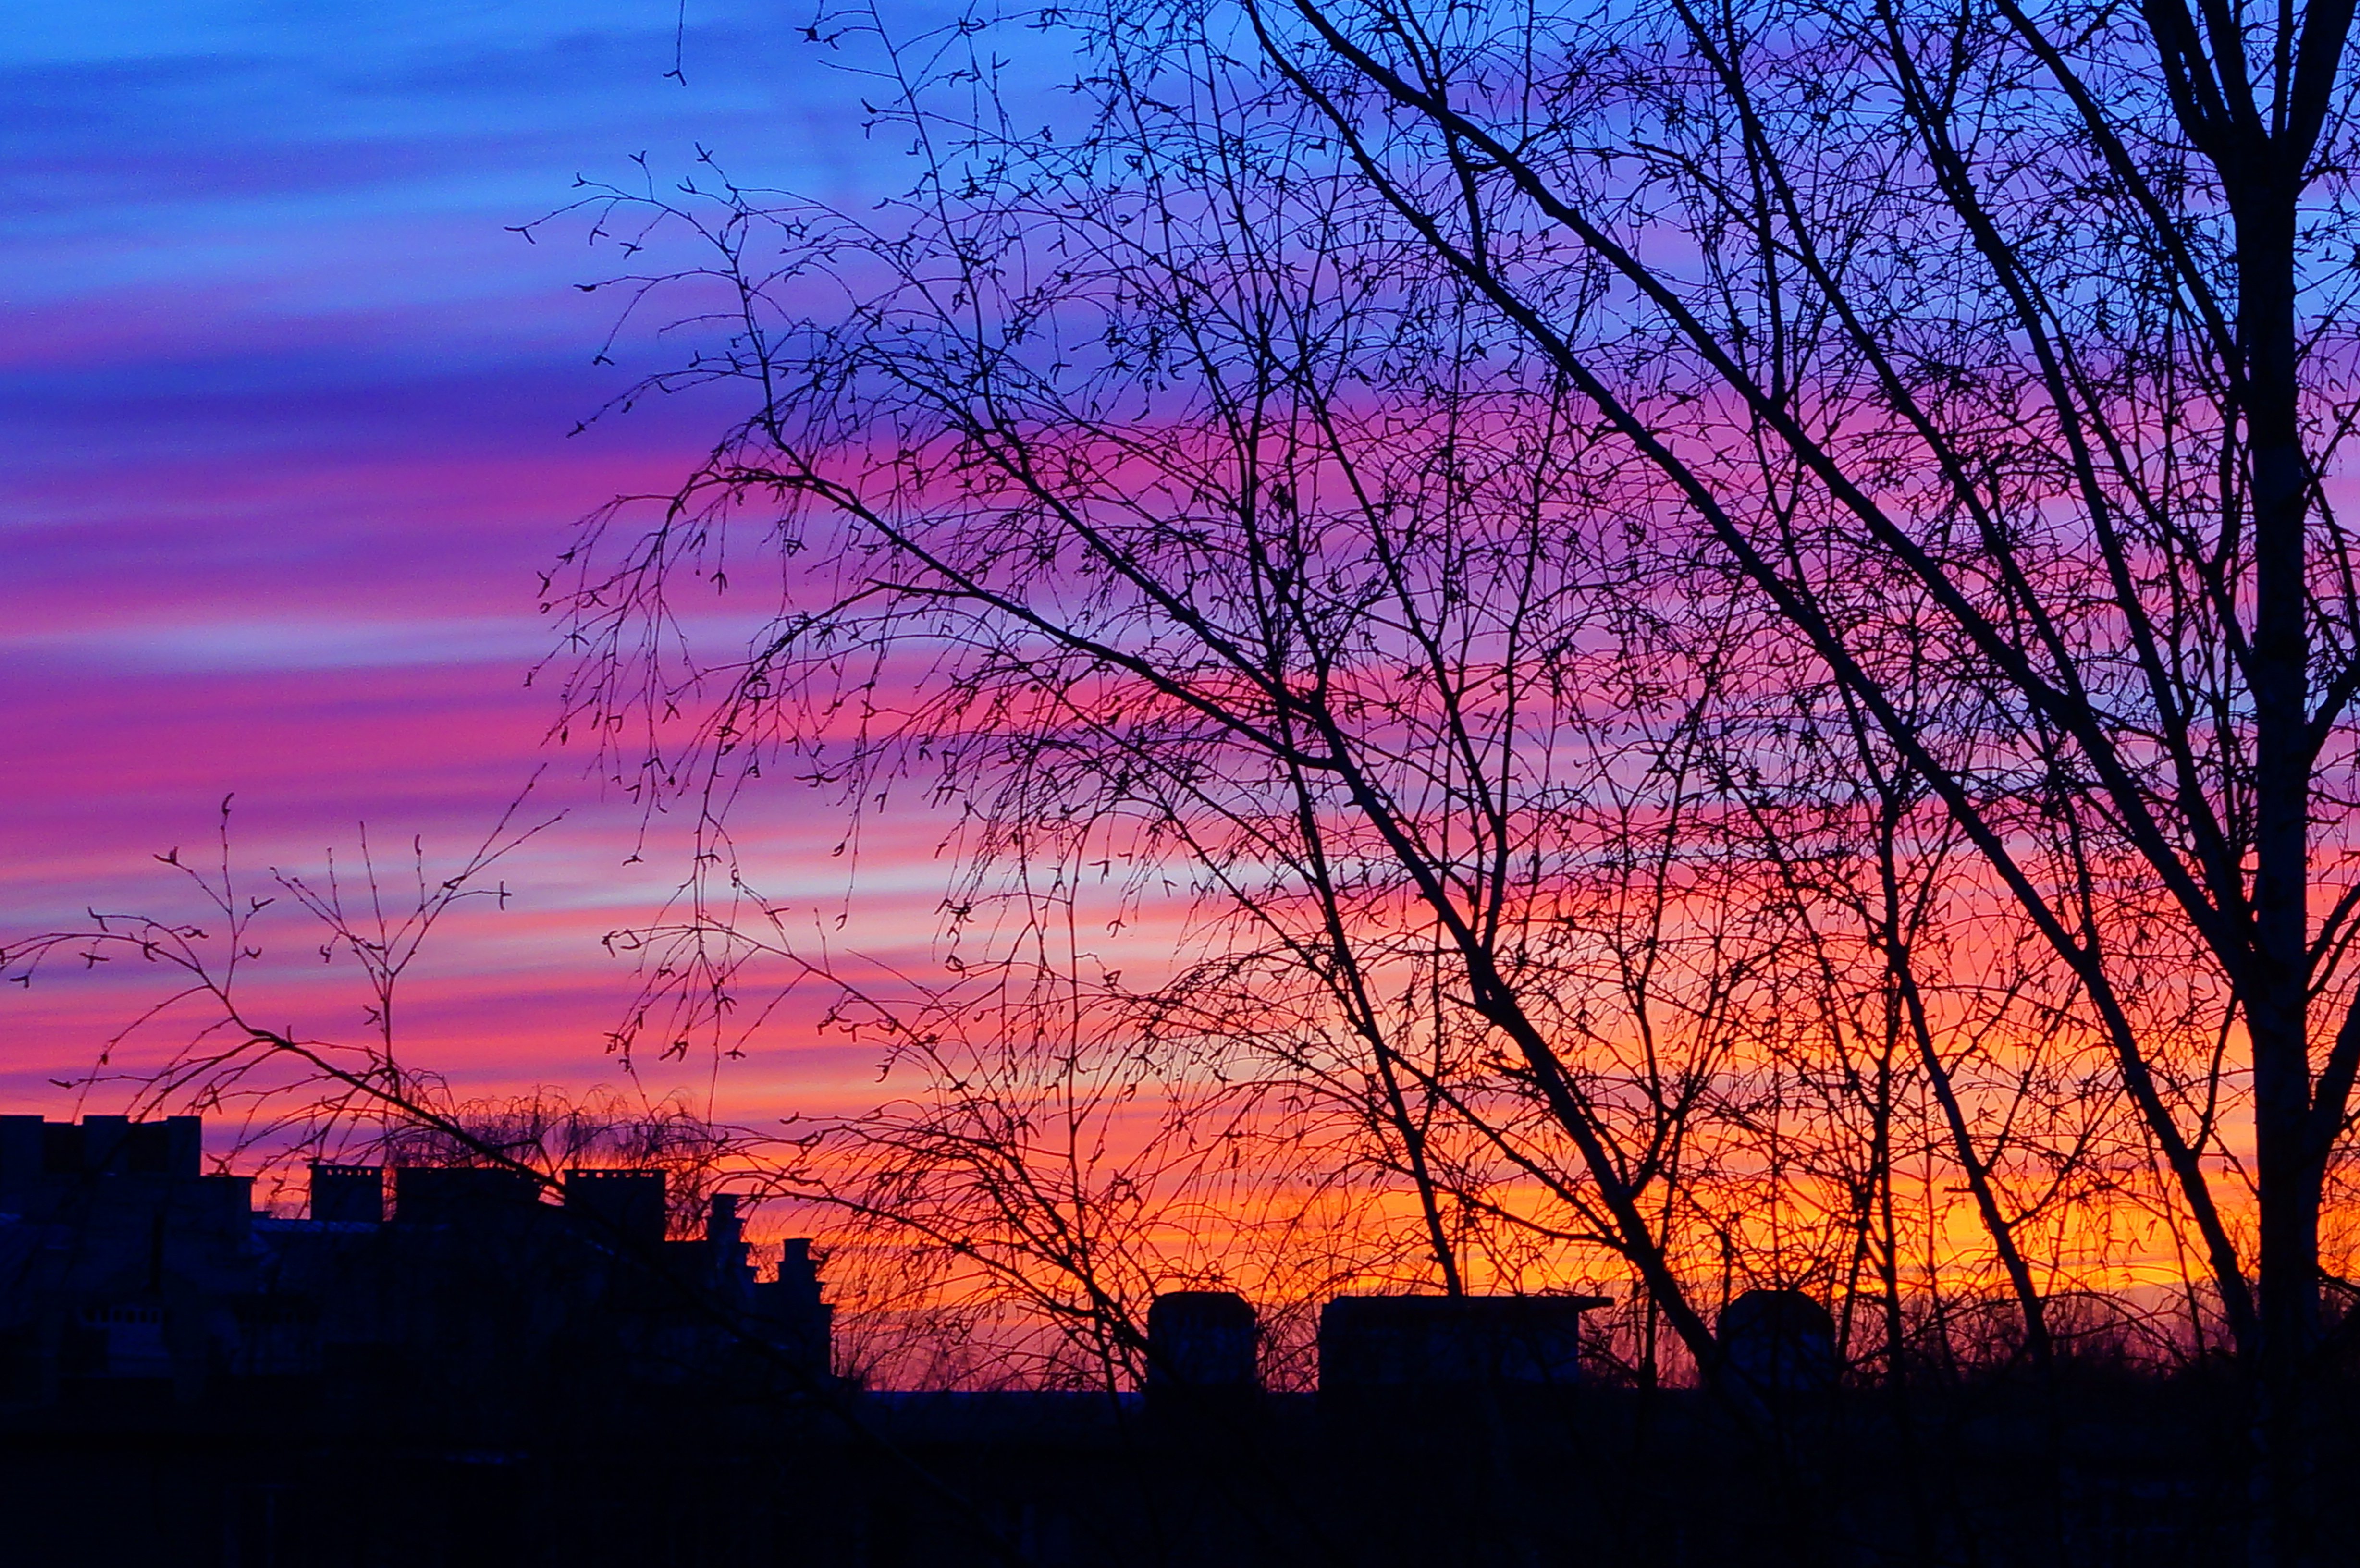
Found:
[[[196,1117],[0,1117],[0,1400],[326,1381],[491,1405],[557,1363],[602,1393],[831,1381],[809,1244],[758,1280],[732,1195],[668,1240],[663,1171],[566,1171],[543,1202],[512,1169],[316,1164],[309,1216],[274,1219],[201,1148]]]

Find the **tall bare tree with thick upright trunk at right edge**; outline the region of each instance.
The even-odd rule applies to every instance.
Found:
[[[2360,1067],[2329,489],[2351,7],[1246,17],[2070,971],[2251,1374],[2256,1554],[2308,1561],[2320,1204]],[[1895,697],[1900,623],[1956,671],[1930,713]],[[2230,1193],[2221,1077],[2143,1011],[2166,975],[2242,1034]]]

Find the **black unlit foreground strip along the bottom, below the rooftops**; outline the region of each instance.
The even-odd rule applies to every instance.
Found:
[[[1529,1407],[1303,1396],[850,1396],[432,1417],[399,1377],[179,1405],[94,1384],[0,1417],[7,1563],[345,1568],[991,1561],[2074,1563],[2242,1559],[2235,1400],[2204,1379],[1838,1393],[1744,1438],[1694,1393]],[[2360,1476],[2334,1448],[2322,1490]],[[2336,1528],[2348,1507],[2329,1504]],[[2329,1561],[2355,1561],[2336,1542]]]

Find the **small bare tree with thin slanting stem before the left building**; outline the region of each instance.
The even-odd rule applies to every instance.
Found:
[[[779,1138],[720,1124],[677,1098],[618,1089],[538,1086],[465,1098],[441,1072],[406,1053],[396,1027],[404,980],[437,928],[470,904],[505,907],[510,888],[496,869],[555,827],[557,817],[526,819],[529,801],[531,786],[472,852],[444,867],[432,867],[422,838],[413,838],[406,876],[371,852],[366,829],[356,869],[337,867],[330,855],[321,874],[271,867],[255,876],[231,850],[231,812],[222,801],[215,855],[205,862],[184,860],[179,850],[156,857],[177,874],[182,893],[194,893],[194,919],[186,909],[92,909],[83,926],[0,947],[0,978],[31,987],[59,971],[137,966],[132,994],[142,1001],[104,1041],[90,1072],[68,1086],[118,1096],[135,1115],[229,1112],[236,1143],[224,1164],[245,1155],[262,1174],[283,1174],[304,1157],[368,1155],[401,1167],[510,1171],[543,1193],[562,1190],[569,1169],[661,1169],[670,1228],[687,1240],[703,1230],[708,1200],[722,1183],[753,1195],[788,1185],[776,1178]],[[288,928],[269,919],[274,909],[295,914],[297,945],[307,942],[321,963],[342,959],[359,971],[356,997],[337,989],[340,1001],[359,1001],[359,1032],[286,1023],[281,1006],[290,997],[274,985],[286,973],[274,973],[269,961],[283,952],[278,937]],[[979,1549],[1005,1563],[1029,1561],[986,1509],[864,1422],[835,1379],[814,1381],[802,1358],[784,1353],[741,1304],[668,1266],[661,1249],[595,1211],[581,1219],[607,1228],[602,1240],[618,1261],[642,1270],[654,1299],[701,1318],[772,1367],[866,1452],[946,1504]]]

